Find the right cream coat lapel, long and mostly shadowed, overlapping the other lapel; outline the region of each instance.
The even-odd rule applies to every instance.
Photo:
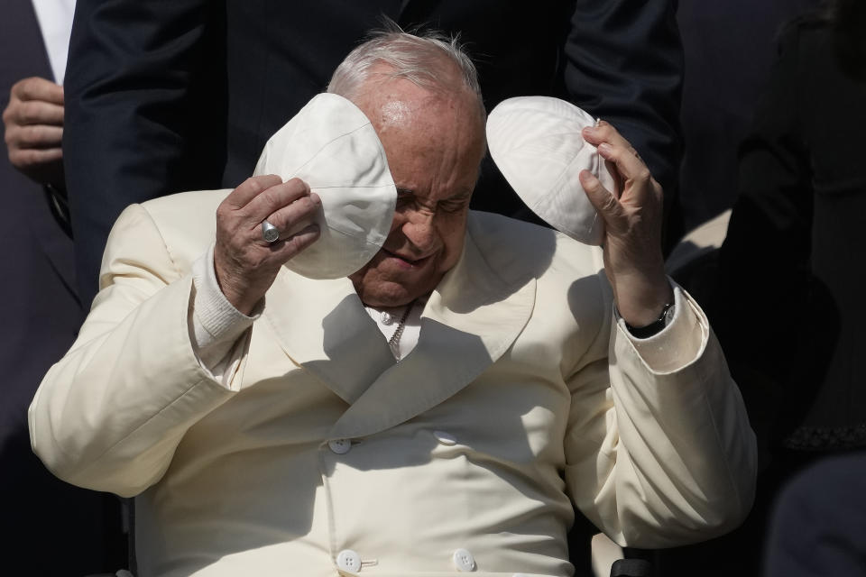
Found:
[[[535,279],[503,280],[467,235],[461,260],[428,299],[415,350],[355,400],[331,438],[373,435],[454,396],[508,350],[534,305]]]

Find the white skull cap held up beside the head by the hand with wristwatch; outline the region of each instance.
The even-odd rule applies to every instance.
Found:
[[[502,176],[532,212],[576,241],[601,244],[604,222],[577,175],[589,170],[614,192],[613,176],[580,131],[595,120],[549,96],[503,100],[487,119],[487,146]]]

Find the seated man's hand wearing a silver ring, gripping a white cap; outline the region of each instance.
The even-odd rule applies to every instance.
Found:
[[[280,267],[318,239],[318,224],[312,223],[320,206],[306,182],[282,182],[272,174],[246,179],[219,205],[214,269],[237,310],[249,315]],[[264,220],[277,227],[280,240],[264,240]]]

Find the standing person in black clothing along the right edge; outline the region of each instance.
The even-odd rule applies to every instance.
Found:
[[[818,459],[866,448],[864,28],[866,5],[836,0],[788,23],[778,39],[740,148],[739,196],[708,307],[758,437],[758,492],[740,529],[678,560],[659,555],[661,574],[760,574],[780,488]],[[756,290],[766,298],[749,298]],[[766,329],[743,323],[753,315]]]

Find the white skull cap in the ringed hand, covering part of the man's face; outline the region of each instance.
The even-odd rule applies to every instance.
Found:
[[[382,142],[361,110],[319,94],[264,145],[254,175],[304,180],[322,199],[321,235],[285,266],[310,279],[338,279],[361,269],[382,248],[397,188]]]

